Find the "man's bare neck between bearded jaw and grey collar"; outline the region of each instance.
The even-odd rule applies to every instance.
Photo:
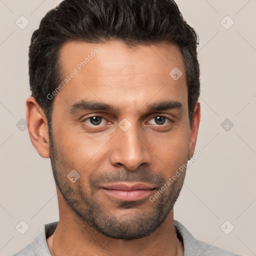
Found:
[[[173,223],[173,209],[151,234],[139,239],[123,240],[101,234],[77,217],[63,198],[60,201],[59,222],[54,233],[47,238],[52,256],[183,255],[183,245],[177,239]]]

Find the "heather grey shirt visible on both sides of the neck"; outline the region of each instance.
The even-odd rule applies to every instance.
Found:
[[[13,256],[50,256],[46,238],[55,230],[58,221],[45,224],[38,235],[25,248]],[[183,240],[184,256],[239,256],[232,252],[222,250],[208,243],[196,240],[191,233],[178,221],[174,220],[177,237]]]

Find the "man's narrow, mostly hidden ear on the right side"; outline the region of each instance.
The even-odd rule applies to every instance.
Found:
[[[199,122],[201,117],[200,103],[196,102],[194,106],[194,114],[190,127],[190,139],[189,139],[189,159],[194,154],[195,143],[197,139],[197,133],[199,128]]]

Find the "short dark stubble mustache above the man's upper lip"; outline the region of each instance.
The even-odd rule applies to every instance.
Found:
[[[116,182],[144,182],[152,183],[155,187],[161,187],[165,182],[165,178],[150,169],[126,170],[118,169],[111,171],[101,171],[97,176],[89,179],[91,191],[101,187],[103,183]]]

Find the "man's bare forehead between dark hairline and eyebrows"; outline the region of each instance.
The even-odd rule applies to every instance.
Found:
[[[60,49],[60,64],[62,82],[67,83],[64,82],[56,99],[70,104],[82,98],[135,104],[144,104],[152,96],[187,100],[185,67],[176,45],[128,47],[118,40],[70,41]],[[183,73],[177,80],[170,76],[176,68]]]

